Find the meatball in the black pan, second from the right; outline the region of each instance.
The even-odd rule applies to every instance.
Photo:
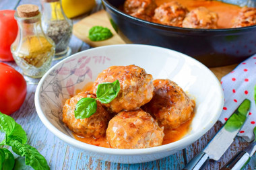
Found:
[[[190,11],[183,21],[184,28],[216,29],[218,15],[205,7],[198,7]]]

